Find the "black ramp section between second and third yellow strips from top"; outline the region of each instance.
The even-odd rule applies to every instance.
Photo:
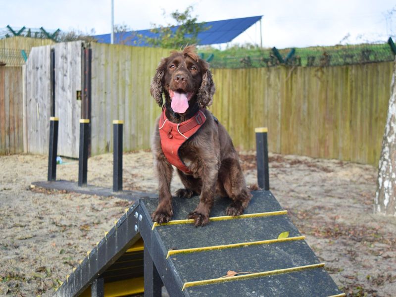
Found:
[[[181,253],[169,259],[183,282],[219,278],[229,270],[256,273],[320,263],[303,240]]]

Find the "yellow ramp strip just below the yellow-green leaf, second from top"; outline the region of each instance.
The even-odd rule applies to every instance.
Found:
[[[258,246],[258,245],[269,245],[275,243],[283,243],[297,240],[304,240],[305,236],[296,236],[296,237],[288,237],[288,238],[280,238],[280,239],[269,239],[269,240],[261,240],[249,243],[239,243],[239,244],[230,244],[230,245],[220,245],[220,246],[211,246],[211,247],[193,247],[193,248],[184,248],[184,249],[171,249],[168,251],[166,258],[169,258],[171,255],[180,254],[180,253],[191,253],[191,252],[200,252],[206,250],[215,250],[215,249],[226,249],[226,248],[234,248],[234,247],[247,247],[247,246]]]

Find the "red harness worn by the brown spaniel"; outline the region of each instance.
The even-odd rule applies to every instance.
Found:
[[[182,144],[196,133],[206,121],[204,109],[198,112],[187,121],[180,124],[172,123],[165,115],[165,108],[162,109],[159,117],[159,136],[161,138],[161,148],[169,163],[176,166],[184,173],[191,173],[179,156],[179,148]]]

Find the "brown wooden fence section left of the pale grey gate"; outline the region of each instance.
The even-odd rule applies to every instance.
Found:
[[[22,67],[0,66],[0,154],[23,152]]]

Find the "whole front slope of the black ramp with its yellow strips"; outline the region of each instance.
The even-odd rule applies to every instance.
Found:
[[[154,226],[149,238],[158,242],[157,252],[166,256],[171,251],[166,262],[168,268],[159,274],[171,272],[177,287],[183,284],[174,292],[181,290],[178,292],[183,296],[194,297],[341,294],[287,214],[280,212],[282,207],[271,192],[253,191],[252,195],[244,215],[255,215],[216,219],[225,215],[231,202],[228,198],[216,198],[210,214],[212,220],[202,228],[177,221],[187,218],[199,198],[173,198],[173,222]],[[140,200],[151,227],[150,214],[157,202],[156,198]],[[289,232],[288,237],[278,239],[285,231]],[[241,274],[224,278],[228,271]]]

